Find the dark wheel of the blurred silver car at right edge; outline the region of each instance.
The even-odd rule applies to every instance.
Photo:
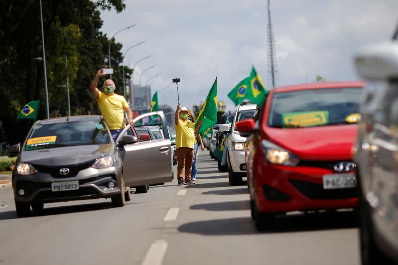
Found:
[[[373,236],[372,222],[369,213],[369,206],[363,198],[361,192],[359,196],[359,231],[361,259],[363,265],[373,264],[393,264],[388,257],[379,249]]]

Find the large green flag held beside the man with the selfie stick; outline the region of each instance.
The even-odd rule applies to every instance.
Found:
[[[214,124],[217,123],[217,78],[215,78],[214,84],[207,95],[206,101],[200,110],[198,117],[195,122],[195,128],[197,128],[199,121],[203,118],[203,124],[199,128],[198,133],[201,133]]]

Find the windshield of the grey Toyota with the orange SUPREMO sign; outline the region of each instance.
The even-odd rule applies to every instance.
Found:
[[[103,121],[71,121],[36,125],[25,150],[110,143]]]

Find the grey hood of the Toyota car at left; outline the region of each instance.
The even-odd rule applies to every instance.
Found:
[[[22,151],[19,161],[46,166],[74,165],[108,155],[111,150],[110,144],[36,149]]]

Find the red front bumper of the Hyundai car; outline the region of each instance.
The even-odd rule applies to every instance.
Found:
[[[357,188],[323,189],[323,175],[334,173],[317,167],[272,165],[257,156],[253,166],[254,193],[260,212],[289,212],[355,208]]]

